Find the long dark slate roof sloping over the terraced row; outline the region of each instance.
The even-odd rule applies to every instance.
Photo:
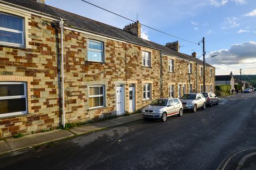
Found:
[[[70,13],[64,10],[60,10],[59,8],[55,8],[53,6],[49,6],[46,4],[38,3],[34,0],[1,0],[7,3],[12,3],[14,5],[19,5],[22,7],[30,8],[31,10],[35,10],[38,12],[42,12],[45,14],[50,14],[53,16],[57,16],[58,18],[62,18],[67,20],[65,23],[67,23],[70,27],[76,27],[79,29],[87,30],[89,32],[98,33],[99,35],[105,35],[107,37],[113,37],[120,40],[125,40],[130,43],[139,44],[146,47],[155,48],[158,50],[162,50],[163,54],[171,55],[171,56],[177,56],[180,58],[183,58],[185,60],[191,60],[195,61],[198,64],[203,64],[201,60],[198,58],[195,58],[193,56],[179,53],[175,51],[174,49],[165,47],[163,45],[154,43],[152,41],[148,41],[145,39],[142,39],[140,37],[134,36],[131,33],[128,33],[122,29],[113,27],[111,25],[101,23],[98,21],[94,21],[89,18],[85,18],[84,16],[80,16],[74,13]],[[0,2],[1,2],[0,1]],[[211,66],[210,64],[207,64],[207,66]],[[213,66],[211,66],[213,67]]]

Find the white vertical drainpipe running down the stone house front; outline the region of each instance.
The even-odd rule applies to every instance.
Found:
[[[63,57],[63,19],[60,19],[60,28],[61,28],[61,81],[62,81],[62,86],[61,86],[61,91],[62,91],[62,123],[63,123],[63,128],[65,128],[65,96],[64,96],[64,57]]]

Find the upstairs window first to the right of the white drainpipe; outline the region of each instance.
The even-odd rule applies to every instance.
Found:
[[[103,63],[103,43],[95,40],[88,40],[88,61]]]

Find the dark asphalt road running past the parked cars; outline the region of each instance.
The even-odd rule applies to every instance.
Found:
[[[140,120],[0,156],[0,169],[217,169],[256,146],[256,92],[166,122]]]

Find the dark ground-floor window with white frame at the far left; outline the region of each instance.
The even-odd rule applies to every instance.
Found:
[[[27,83],[0,82],[0,117],[26,113]]]

